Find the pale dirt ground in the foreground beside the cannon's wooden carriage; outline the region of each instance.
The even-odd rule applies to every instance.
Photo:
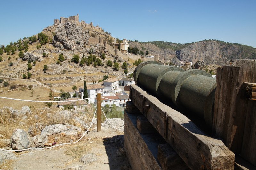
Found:
[[[65,169],[83,165],[84,169],[129,169],[129,163],[122,143],[111,143],[113,136],[124,132],[102,130],[90,131],[81,141],[71,145],[45,150],[31,150],[16,153],[18,160],[2,165],[2,169]],[[80,162],[84,154],[95,154],[95,162]]]

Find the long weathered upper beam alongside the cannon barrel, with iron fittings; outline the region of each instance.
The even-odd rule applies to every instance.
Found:
[[[235,155],[219,139],[204,134],[180,112],[133,84],[132,102],[191,169],[233,169]],[[134,95],[133,95],[134,94]],[[138,96],[142,95],[142,105]],[[137,96],[137,97],[136,97]],[[146,107],[145,107],[146,106]]]

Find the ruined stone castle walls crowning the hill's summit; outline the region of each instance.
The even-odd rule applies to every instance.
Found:
[[[58,25],[58,24],[65,24],[66,21],[72,21],[75,22],[77,25],[81,25],[82,27],[86,27],[86,28],[91,28],[91,29],[96,29],[96,30],[102,30],[101,27],[97,26],[93,26],[93,23],[91,22],[90,24],[85,23],[85,21],[81,21],[79,22],[79,14],[74,15],[74,16],[70,16],[68,18],[65,17],[60,17],[59,19],[54,19],[54,25]]]

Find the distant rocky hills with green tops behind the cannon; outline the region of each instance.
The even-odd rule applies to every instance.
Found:
[[[160,60],[175,64],[181,60],[193,63],[204,60],[206,65],[222,66],[230,59],[256,59],[256,48],[218,40],[204,40],[187,44],[163,41],[144,43],[130,41],[129,44],[131,47],[139,48],[144,53],[148,50],[153,55],[160,54]]]

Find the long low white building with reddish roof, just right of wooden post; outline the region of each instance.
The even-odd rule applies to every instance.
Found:
[[[115,104],[117,107],[125,107],[127,101],[130,101],[129,95],[104,96],[101,98],[101,106]]]

